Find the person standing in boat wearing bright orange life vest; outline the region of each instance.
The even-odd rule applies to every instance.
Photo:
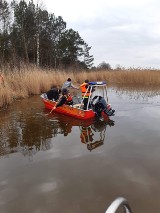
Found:
[[[84,83],[80,85],[80,88],[81,88],[82,99],[84,104],[83,109],[86,110],[87,105],[88,105],[88,108],[91,108],[91,104],[90,103],[88,104],[88,100],[94,90],[91,91],[91,88],[89,87],[89,80],[86,79]]]

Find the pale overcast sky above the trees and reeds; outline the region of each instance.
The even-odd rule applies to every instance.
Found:
[[[94,65],[160,69],[159,0],[44,0],[92,46]]]

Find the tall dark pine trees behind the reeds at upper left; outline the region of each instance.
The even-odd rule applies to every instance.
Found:
[[[77,31],[67,29],[56,17],[35,5],[0,0],[0,66],[18,67],[20,62],[41,67],[88,69],[93,66],[91,47]]]

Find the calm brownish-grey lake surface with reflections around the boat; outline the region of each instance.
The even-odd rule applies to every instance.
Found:
[[[119,196],[160,212],[160,96],[109,90],[109,102],[105,121],[46,115],[38,96],[1,109],[0,213],[104,213]]]

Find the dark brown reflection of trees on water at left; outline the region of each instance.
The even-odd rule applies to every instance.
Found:
[[[47,120],[42,116],[28,116],[23,112],[11,113],[10,119],[1,124],[0,155],[17,151],[30,155],[40,149],[49,149],[50,138],[56,132],[46,124]]]

